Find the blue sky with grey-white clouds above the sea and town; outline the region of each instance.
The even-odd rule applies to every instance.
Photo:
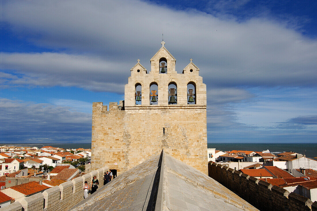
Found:
[[[165,47],[207,84],[208,142],[317,142],[316,1],[1,1],[0,143],[90,142]]]

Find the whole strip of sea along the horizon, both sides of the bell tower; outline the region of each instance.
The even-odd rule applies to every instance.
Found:
[[[44,147],[52,146],[59,148],[71,148],[71,149],[91,149],[91,143],[47,143],[47,144],[0,144],[0,145],[15,145],[15,146],[32,146],[32,147]],[[317,143],[301,143],[301,144],[287,144],[287,143],[207,143],[208,148],[216,148],[221,151],[230,150],[250,150],[250,151],[263,151],[270,150],[273,154],[279,154],[282,152],[297,152],[306,155],[306,157],[317,157]]]

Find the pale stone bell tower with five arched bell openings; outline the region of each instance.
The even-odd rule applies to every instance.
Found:
[[[190,63],[178,74],[176,59],[162,47],[151,71],[138,63],[125,85],[124,101],[93,103],[92,169],[118,174],[165,153],[207,174],[206,84]]]

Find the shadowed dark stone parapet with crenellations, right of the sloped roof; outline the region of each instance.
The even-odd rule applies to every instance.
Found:
[[[231,173],[232,172],[232,173]],[[273,186],[246,174],[216,164],[208,163],[208,175],[235,192],[260,210],[314,210],[316,205],[301,195],[289,193],[288,190]],[[315,206],[315,207],[314,207]]]

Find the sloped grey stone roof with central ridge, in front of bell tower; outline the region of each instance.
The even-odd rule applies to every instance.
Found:
[[[122,173],[71,210],[257,210],[163,151]]]

